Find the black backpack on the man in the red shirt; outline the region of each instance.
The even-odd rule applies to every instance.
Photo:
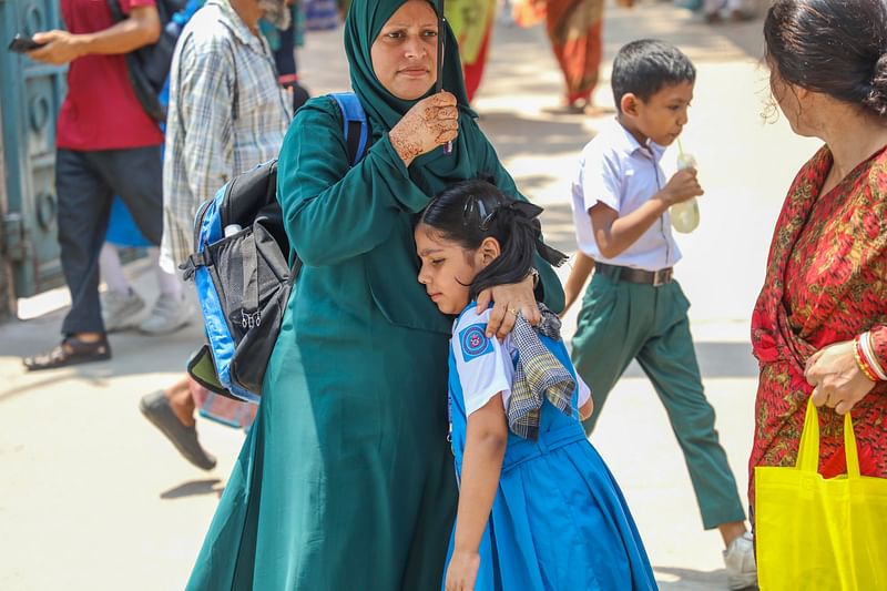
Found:
[[[135,96],[151,119],[159,123],[166,122],[166,106],[161,103],[159,96],[170,75],[175,43],[182,32],[182,26],[173,17],[184,11],[186,1],[156,0],[160,39],[156,43],[126,53],[126,68]],[[120,0],[108,0],[108,8],[111,9],[114,22],[126,19]]]

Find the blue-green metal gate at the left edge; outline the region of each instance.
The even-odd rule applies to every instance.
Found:
[[[6,51],[16,33],[61,29],[58,0],[0,0],[0,100],[7,172],[6,247],[16,295],[63,283],[57,240],[55,119],[65,67]]]

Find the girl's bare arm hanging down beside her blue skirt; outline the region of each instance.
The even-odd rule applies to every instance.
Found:
[[[459,510],[447,591],[470,591],[480,565],[478,549],[499,488],[508,425],[501,393],[468,417]]]

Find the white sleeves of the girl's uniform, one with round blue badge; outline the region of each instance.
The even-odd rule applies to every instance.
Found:
[[[456,359],[456,371],[459,374],[466,417],[482,408],[493,396],[502,393],[502,406],[508,408],[511,397],[511,384],[514,381],[514,358],[517,348],[512,345],[511,335],[499,343],[496,337],[487,338],[487,323],[490,322],[491,308],[481,314],[472,303],[452,323],[452,356]],[[591,397],[591,390],[577,375],[579,386],[579,404],[581,407]]]

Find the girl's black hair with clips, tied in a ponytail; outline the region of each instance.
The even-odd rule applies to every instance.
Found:
[[[469,251],[479,248],[487,237],[499,242],[499,257],[471,282],[469,297],[475,299],[483,289],[523,279],[533,267],[537,252],[555,266],[567,259],[542,242],[542,226],[537,220],[540,213],[542,208],[537,205],[510,200],[487,181],[472,180],[438,193],[419,214],[419,223]]]

